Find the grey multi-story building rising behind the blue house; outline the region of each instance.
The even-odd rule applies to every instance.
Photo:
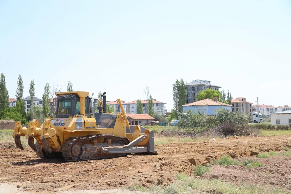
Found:
[[[192,82],[186,82],[186,104],[196,102],[197,93],[206,90],[206,89],[214,89],[219,90],[220,86],[210,84],[210,81],[207,80],[192,80]]]

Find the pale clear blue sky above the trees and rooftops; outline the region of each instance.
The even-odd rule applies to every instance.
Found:
[[[147,84],[170,110],[183,78],[291,105],[290,62],[290,1],[0,1],[10,97],[19,74],[24,96],[34,80],[39,98],[46,82],[65,91],[71,80],[74,90],[128,102],[144,99]]]

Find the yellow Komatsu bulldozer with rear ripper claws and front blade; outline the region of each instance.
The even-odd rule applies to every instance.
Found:
[[[20,149],[26,136],[40,158],[63,157],[66,161],[83,161],[123,156],[128,153],[157,154],[153,131],[129,125],[120,99],[118,114],[106,112],[106,93],[94,102],[89,92],[57,92],[56,114],[40,124],[38,119],[22,127],[15,123],[13,137]],[[93,96],[93,95],[92,95]],[[95,112],[94,104],[98,103]],[[120,112],[121,110],[121,112]],[[35,140],[36,143],[35,143]]]

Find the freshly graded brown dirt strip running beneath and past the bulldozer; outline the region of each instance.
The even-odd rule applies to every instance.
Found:
[[[13,144],[0,145],[0,183],[19,185],[19,191],[62,192],[108,190],[136,184],[167,185],[179,173],[191,174],[195,163],[229,154],[250,156],[261,148],[280,151],[291,147],[291,136],[232,137],[212,142],[164,144],[156,146],[158,155],[127,157],[82,162],[62,159],[39,159],[31,149],[23,151]],[[2,184],[3,186],[3,184]]]

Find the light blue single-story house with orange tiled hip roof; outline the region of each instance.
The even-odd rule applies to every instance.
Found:
[[[206,113],[206,114],[214,116],[219,109],[225,108],[231,111],[231,108],[233,106],[226,103],[219,102],[217,101],[217,97],[214,97],[213,100],[211,99],[199,100],[193,103],[182,105],[182,107],[183,107],[184,113],[187,112],[187,110],[191,110],[192,112],[195,112],[195,113],[200,113],[200,114]]]

